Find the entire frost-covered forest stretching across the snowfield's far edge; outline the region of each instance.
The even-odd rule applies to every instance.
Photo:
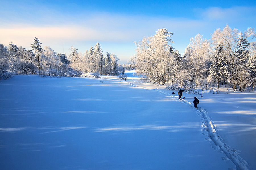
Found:
[[[0,79],[13,74],[78,77],[83,72],[92,75],[118,75],[124,69],[136,69],[147,82],[166,84],[167,88],[197,92],[219,88],[224,84],[233,91],[254,90],[256,86],[256,37],[253,28],[245,32],[226,25],[216,29],[210,40],[197,34],[182,55],[170,44],[173,33],[158,29],[156,34],[135,42],[136,54],[126,65],[118,64],[115,54],[103,55],[97,43],[84,54],[71,46],[70,54],[56,54],[46,46],[41,48],[34,38],[31,50],[0,44]],[[124,73],[124,72],[123,72]]]

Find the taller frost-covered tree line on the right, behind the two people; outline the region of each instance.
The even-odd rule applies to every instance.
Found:
[[[245,91],[256,85],[256,37],[253,28],[244,33],[226,25],[216,29],[210,40],[197,34],[190,39],[184,55],[169,43],[173,33],[158,29],[154,36],[135,42],[136,55],[130,63],[144,79],[159,84],[168,83],[169,89],[201,92],[219,84],[227,89]]]

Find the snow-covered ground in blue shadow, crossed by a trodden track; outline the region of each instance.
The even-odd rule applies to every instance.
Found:
[[[15,75],[0,82],[0,169],[256,169],[256,94]]]

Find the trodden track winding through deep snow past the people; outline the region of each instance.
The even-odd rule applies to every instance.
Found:
[[[132,84],[130,82],[127,82],[127,83],[133,87],[138,87],[135,84]],[[145,87],[138,87],[138,88],[148,89]],[[159,88],[148,89],[148,90],[155,90],[162,94],[165,94],[165,95],[168,95],[171,97],[175,97],[177,100],[179,100],[177,96],[173,96],[172,94],[164,92],[164,91],[160,90]],[[192,103],[188,102],[187,100],[182,99],[181,101],[183,101],[183,103],[189,105],[190,107],[194,107],[194,105]],[[197,112],[202,118],[203,135],[207,136],[206,140],[211,143],[212,148],[214,150],[218,150],[225,155],[224,157],[222,157],[222,160],[224,160],[224,161],[231,160],[234,163],[234,165],[236,166],[237,170],[249,170],[247,168],[248,163],[245,160],[243,160],[243,158],[241,158],[238,153],[240,151],[236,150],[236,149],[232,148],[231,146],[227,145],[226,143],[224,143],[224,141],[218,135],[218,130],[217,130],[216,126],[214,125],[213,121],[211,120],[207,110],[205,110],[201,107],[198,107]],[[234,169],[229,168],[229,170],[234,170]]]

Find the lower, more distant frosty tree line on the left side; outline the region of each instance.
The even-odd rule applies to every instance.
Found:
[[[95,72],[101,75],[118,75],[118,57],[107,52],[103,55],[101,46],[77,52],[73,46],[70,54],[56,54],[49,46],[41,48],[41,42],[34,38],[31,50],[18,47],[12,42],[8,47],[0,44],[0,80],[13,74],[38,74],[40,76],[78,77],[82,72]],[[119,66],[120,67],[120,66]]]

